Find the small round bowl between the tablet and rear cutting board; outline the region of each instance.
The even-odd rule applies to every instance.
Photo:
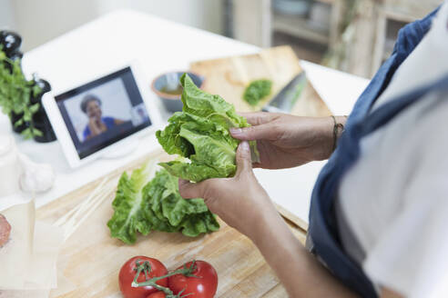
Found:
[[[171,72],[167,74],[158,75],[151,84],[151,89],[162,101],[163,105],[169,112],[182,111],[182,101],[180,100],[180,94],[182,86],[179,83],[180,77],[187,73],[193,83],[199,88],[204,83],[204,77],[191,72]],[[179,91],[178,94],[176,91]]]

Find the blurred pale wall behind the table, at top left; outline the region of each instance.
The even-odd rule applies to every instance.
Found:
[[[0,0],[0,28],[22,35],[25,52],[120,8],[218,34],[223,30],[222,0]]]

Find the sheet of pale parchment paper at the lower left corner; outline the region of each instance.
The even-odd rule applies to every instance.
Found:
[[[0,249],[1,290],[45,290],[33,293],[47,296],[47,290],[57,286],[56,260],[64,234],[59,227],[35,223],[35,211],[33,201],[2,211],[11,224],[11,235]]]

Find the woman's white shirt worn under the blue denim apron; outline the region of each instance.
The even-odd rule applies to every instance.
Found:
[[[373,109],[443,75],[446,2]],[[337,204],[373,283],[406,297],[448,297],[448,94],[426,95],[362,138]]]

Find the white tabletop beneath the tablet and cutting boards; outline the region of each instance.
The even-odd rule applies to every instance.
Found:
[[[57,94],[116,65],[137,60],[147,77],[152,79],[172,70],[187,70],[193,61],[228,55],[255,53],[260,48],[179,25],[152,15],[135,11],[116,11],[57,37],[25,54],[26,75],[34,72],[52,84]],[[356,98],[368,81],[320,65],[302,62],[311,83],[333,114],[349,114]],[[151,93],[151,100],[158,101]],[[159,104],[159,103],[158,103]],[[164,112],[167,116],[167,112]],[[10,132],[5,115],[0,115],[0,133]],[[15,136],[19,150],[36,162],[53,164],[56,184],[36,198],[37,206],[47,204],[83,184],[97,179],[159,147],[154,135],[148,135],[136,151],[125,158],[102,159],[71,170],[57,142],[36,144]],[[260,170],[256,175],[270,197],[292,214],[308,222],[310,196],[323,162],[287,170]]]

